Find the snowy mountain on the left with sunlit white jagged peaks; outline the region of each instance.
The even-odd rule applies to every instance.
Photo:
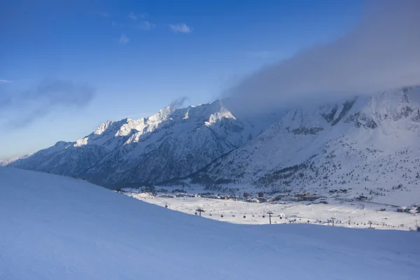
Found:
[[[107,121],[76,142],[17,158],[5,165],[68,176],[103,186],[136,186],[188,176],[242,146],[255,133],[223,106],[166,107],[153,116]]]

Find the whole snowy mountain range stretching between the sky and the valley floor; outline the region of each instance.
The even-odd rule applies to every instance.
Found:
[[[420,183],[420,87],[267,116],[237,118],[221,100],[167,107],[149,118],[106,122],[8,166],[103,186],[182,179],[209,188],[342,187],[381,202],[420,202],[409,193]]]

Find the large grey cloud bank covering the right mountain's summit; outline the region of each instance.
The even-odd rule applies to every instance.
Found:
[[[420,84],[420,1],[377,0],[342,38],[265,66],[225,94],[244,110]]]

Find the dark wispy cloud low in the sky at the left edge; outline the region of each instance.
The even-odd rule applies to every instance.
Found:
[[[34,90],[0,96],[0,120],[8,127],[25,127],[56,109],[80,109],[90,104],[95,89],[69,80],[45,79]]]

